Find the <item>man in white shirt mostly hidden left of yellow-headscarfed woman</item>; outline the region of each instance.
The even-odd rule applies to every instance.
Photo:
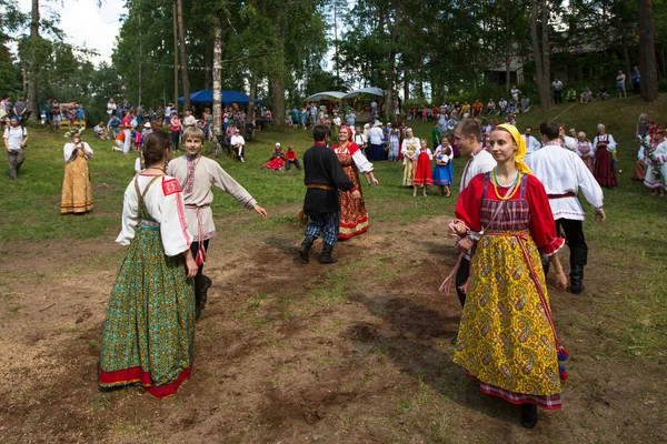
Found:
[[[454,130],[454,140],[461,155],[468,158],[468,163],[466,163],[464,175],[461,176],[460,190],[464,191],[477,174],[487,173],[496,168],[496,160],[481,145],[481,127],[474,119],[464,119],[458,123]],[[466,292],[461,286],[464,286],[470,276],[470,249],[472,248],[469,241],[470,238],[477,241],[480,234],[470,232],[467,239],[457,239],[459,249],[465,252],[464,258],[460,259],[458,270],[456,270],[455,279],[456,293],[458,294],[461,307],[466,304]],[[456,340],[457,337],[455,336],[451,343],[456,344]]]

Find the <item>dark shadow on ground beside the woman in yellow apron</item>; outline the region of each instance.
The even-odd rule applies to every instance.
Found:
[[[451,361],[449,341],[458,331],[459,316],[444,317],[435,310],[391,295],[357,293],[350,295],[350,301],[366,305],[391,331],[385,333],[372,324],[358,322],[346,332],[355,346],[386,354],[401,373],[465,408],[505,422],[517,421],[518,407],[482,395],[479,384],[466,379],[462,369]]]

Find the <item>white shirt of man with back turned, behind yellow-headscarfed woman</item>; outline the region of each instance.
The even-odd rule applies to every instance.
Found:
[[[545,185],[547,194],[578,194],[579,189],[595,209],[603,208],[603,189],[579,157],[558,145],[546,145],[534,152],[526,163]],[[579,198],[549,199],[554,219],[585,220]]]

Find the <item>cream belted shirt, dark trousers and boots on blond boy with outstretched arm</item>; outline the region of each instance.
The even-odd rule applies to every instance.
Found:
[[[211,280],[203,274],[203,264],[208,252],[209,240],[216,235],[213,223],[212,186],[231,194],[241,205],[251,210],[257,201],[236,180],[233,180],[218,162],[199,154],[189,154],[172,159],[167,165],[167,174],[175,176],[182,188],[186,216],[192,238],[192,256],[199,271],[195,278],[195,295],[197,317],[200,316],[207,301],[207,292]]]

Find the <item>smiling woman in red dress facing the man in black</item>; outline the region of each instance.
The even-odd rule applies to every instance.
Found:
[[[352,143],[351,140],[352,130],[349,127],[340,127],[338,143],[331,149],[338,157],[342,171],[360,192],[359,172],[366,175],[366,180],[371,185],[377,185],[378,181],[372,174],[372,163],[364,157],[359,145]],[[354,199],[351,191],[342,191],[340,193],[340,231],[338,239],[350,239],[366,231],[368,231],[368,212],[366,211],[364,195],[361,199]]]

